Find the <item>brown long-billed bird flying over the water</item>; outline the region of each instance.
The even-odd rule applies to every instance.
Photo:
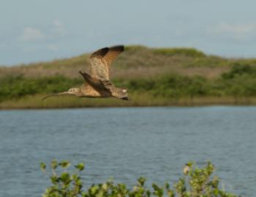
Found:
[[[124,51],[123,45],[105,47],[95,51],[89,58],[91,72],[79,72],[83,79],[84,84],[80,88],[70,88],[69,90],[61,93],[53,93],[45,96],[42,100],[50,96],[72,95],[78,97],[91,97],[91,98],[108,98],[114,97],[116,99],[129,100],[126,89],[117,88],[110,82],[109,72],[110,66],[117,56]]]

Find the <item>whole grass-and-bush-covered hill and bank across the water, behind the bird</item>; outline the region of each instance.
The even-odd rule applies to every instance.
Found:
[[[89,55],[0,68],[0,109],[52,107],[256,104],[256,60],[226,59],[189,48],[126,47],[113,82],[131,101],[40,98],[82,85]]]

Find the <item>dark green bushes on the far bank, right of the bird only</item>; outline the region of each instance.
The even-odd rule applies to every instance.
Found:
[[[129,90],[148,91],[154,96],[176,99],[195,96],[256,96],[256,67],[235,64],[230,72],[225,72],[216,80],[171,74],[154,80],[128,80],[124,85]]]

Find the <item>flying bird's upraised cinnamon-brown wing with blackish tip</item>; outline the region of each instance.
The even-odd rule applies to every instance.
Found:
[[[105,47],[95,51],[90,56],[91,76],[99,80],[109,80],[111,63],[124,51],[123,45]]]

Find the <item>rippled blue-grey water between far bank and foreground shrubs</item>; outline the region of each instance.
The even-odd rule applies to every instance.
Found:
[[[145,107],[0,111],[0,196],[41,196],[39,163],[84,162],[86,185],[173,185],[184,163],[211,160],[225,190],[256,193],[256,107]]]

